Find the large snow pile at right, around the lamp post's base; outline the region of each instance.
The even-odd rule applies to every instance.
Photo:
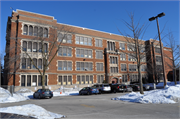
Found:
[[[144,95],[139,92],[129,93],[124,96],[112,98],[112,100],[122,100],[136,103],[177,103],[180,102],[180,85],[166,86],[165,89],[144,91]]]

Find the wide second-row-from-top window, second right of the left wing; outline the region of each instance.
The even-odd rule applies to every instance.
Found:
[[[76,57],[92,58],[92,50],[76,49]]]

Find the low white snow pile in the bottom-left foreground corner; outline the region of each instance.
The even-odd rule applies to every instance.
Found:
[[[34,105],[34,104],[0,108],[0,112],[32,116],[38,119],[44,119],[44,118],[54,119],[54,118],[65,117],[64,115],[61,115],[61,114],[49,112],[45,110],[44,108]]]

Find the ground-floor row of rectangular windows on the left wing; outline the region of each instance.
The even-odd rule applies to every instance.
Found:
[[[45,85],[47,86],[47,75],[45,76]],[[21,75],[21,86],[42,86],[42,76]]]

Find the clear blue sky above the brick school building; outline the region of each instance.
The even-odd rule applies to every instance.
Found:
[[[0,3],[0,53],[5,51],[7,18],[11,16],[12,12],[10,7],[15,11],[20,9],[54,16],[58,23],[114,34],[120,34],[117,27],[131,33],[121,20],[130,21],[127,13],[134,12],[136,21],[141,18],[142,24],[149,24],[144,40],[154,38],[158,33],[156,21],[150,22],[148,19],[164,12],[166,15],[158,19],[160,30],[165,26],[161,37],[168,33],[168,30],[171,30],[175,40],[179,43],[179,1],[0,1]],[[167,39],[163,39],[163,43],[165,40]]]

